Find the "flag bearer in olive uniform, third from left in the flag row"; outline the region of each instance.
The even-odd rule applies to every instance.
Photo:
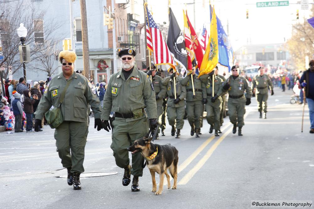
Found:
[[[181,85],[187,89],[186,97],[186,112],[187,120],[191,126],[191,136],[199,137],[199,130],[201,128],[201,116],[203,115],[203,96],[206,97],[205,84],[198,79],[198,75],[195,74],[195,67],[192,70],[192,75],[187,75],[181,80]],[[193,79],[193,83],[192,83]],[[194,85],[194,87],[192,86]],[[194,88],[194,95],[193,95]]]

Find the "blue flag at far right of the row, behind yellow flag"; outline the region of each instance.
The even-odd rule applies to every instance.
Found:
[[[210,19],[212,19],[212,6],[210,5]],[[219,58],[218,62],[220,65],[224,65],[231,70],[233,66],[233,49],[231,47],[230,41],[227,34],[225,33],[224,28],[220,22],[220,19],[217,17],[217,32],[218,32],[218,52]]]

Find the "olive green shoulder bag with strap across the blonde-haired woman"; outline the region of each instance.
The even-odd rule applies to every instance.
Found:
[[[72,80],[73,79],[71,79],[70,81],[67,82],[67,85],[65,86],[64,90],[62,91],[62,93],[60,95],[60,101],[59,101],[58,107],[54,107],[52,110],[49,110],[48,112],[45,113],[47,123],[49,124],[49,126],[51,128],[58,128],[58,126],[60,126],[60,124],[63,122],[63,117],[62,117],[60,107],[61,107],[61,104],[64,100],[65,92],[67,91]]]

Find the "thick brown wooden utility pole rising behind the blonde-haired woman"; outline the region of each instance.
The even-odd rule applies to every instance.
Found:
[[[82,45],[83,45],[83,68],[84,76],[90,81],[89,71],[89,47],[88,47],[88,30],[85,0],[80,0],[81,6],[81,24],[82,24]]]

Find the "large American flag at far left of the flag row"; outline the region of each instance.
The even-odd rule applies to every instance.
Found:
[[[146,9],[146,34],[147,34],[147,47],[154,51],[154,62],[158,64],[169,64],[175,70],[175,62],[171,56],[170,50],[162,36],[157,24],[155,23],[152,15],[149,13],[147,3]]]

